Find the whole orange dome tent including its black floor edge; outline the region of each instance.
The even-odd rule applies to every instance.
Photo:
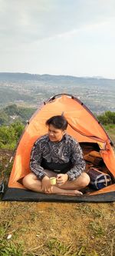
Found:
[[[30,171],[31,148],[38,137],[47,133],[45,121],[53,115],[64,115],[68,121],[67,133],[79,141],[84,159],[94,153],[101,159],[101,167],[110,175],[112,184],[98,191],[88,191],[79,197],[58,194],[42,194],[28,191],[21,179]],[[15,154],[15,161],[3,201],[114,201],[115,200],[115,155],[112,141],[92,112],[72,95],[56,95],[50,98],[41,109],[31,117],[21,136]],[[100,162],[100,161],[99,161]],[[102,164],[103,163],[103,164]]]

